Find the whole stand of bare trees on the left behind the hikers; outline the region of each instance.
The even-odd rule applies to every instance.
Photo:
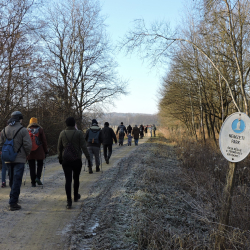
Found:
[[[125,93],[98,1],[0,0],[0,128],[19,110],[55,148],[65,119]]]

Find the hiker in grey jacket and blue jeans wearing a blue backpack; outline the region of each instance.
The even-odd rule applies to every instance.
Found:
[[[8,120],[8,126],[1,132],[0,151],[2,158],[9,168],[10,178],[10,199],[9,210],[15,211],[21,209],[18,204],[20,195],[20,187],[22,184],[24,165],[29,155],[32,142],[27,129],[22,126],[23,115],[20,111],[11,114]],[[14,152],[11,150],[10,143],[14,144]],[[14,153],[14,154],[13,154]],[[13,160],[9,160],[9,156],[13,156]]]

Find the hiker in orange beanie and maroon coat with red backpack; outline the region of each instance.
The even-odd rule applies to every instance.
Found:
[[[36,187],[36,183],[43,185],[41,176],[43,161],[46,158],[46,154],[48,154],[47,140],[43,128],[37,123],[37,118],[32,117],[30,119],[27,129],[32,141],[31,152],[27,158],[30,168],[31,186]]]

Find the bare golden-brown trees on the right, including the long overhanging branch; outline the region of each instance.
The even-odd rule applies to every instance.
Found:
[[[183,25],[136,20],[121,42],[152,66],[169,65],[160,90],[160,118],[181,121],[190,134],[216,141],[225,118],[248,114],[249,0],[187,1]],[[205,133],[205,132],[206,133]]]

